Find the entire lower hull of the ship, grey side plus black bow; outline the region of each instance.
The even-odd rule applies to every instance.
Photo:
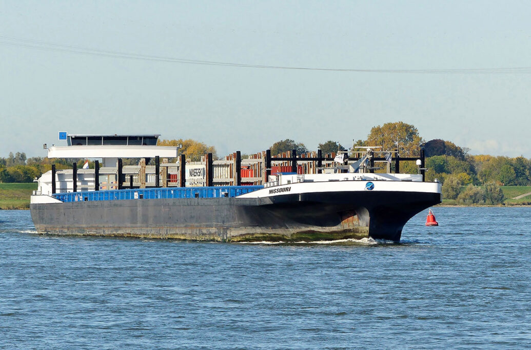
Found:
[[[374,237],[398,241],[410,217],[440,195],[352,193],[269,198],[176,198],[31,204],[39,233],[209,241]],[[408,203],[407,206],[404,203]]]

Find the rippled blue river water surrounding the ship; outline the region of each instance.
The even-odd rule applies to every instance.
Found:
[[[40,236],[0,212],[0,347],[531,346],[531,208],[438,208],[402,242]]]

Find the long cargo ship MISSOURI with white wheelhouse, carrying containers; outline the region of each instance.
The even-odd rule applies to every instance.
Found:
[[[399,241],[406,222],[441,202],[424,181],[424,156],[399,158],[367,147],[322,156],[264,151],[187,162],[158,134],[60,133],[49,158],[98,159],[93,169],[52,170],[38,179],[31,217],[38,233],[225,242],[373,238]],[[352,153],[351,153],[352,155]],[[102,160],[100,167],[99,159]],[[133,165],[124,165],[124,160]],[[416,161],[417,174],[399,173]],[[378,162],[394,172],[375,172]],[[86,168],[86,167],[83,167]],[[242,176],[243,175],[243,176]]]

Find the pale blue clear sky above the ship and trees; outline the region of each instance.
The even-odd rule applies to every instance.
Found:
[[[316,150],[404,121],[426,141],[531,158],[530,13],[529,1],[0,0],[0,157],[46,156],[59,131],[193,138],[219,156],[285,138]],[[492,68],[521,69],[470,73]]]

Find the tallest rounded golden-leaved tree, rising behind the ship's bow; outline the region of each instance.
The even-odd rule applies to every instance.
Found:
[[[367,135],[367,146],[382,146],[383,151],[395,150],[397,143],[401,156],[418,156],[424,140],[415,126],[402,121],[375,126]]]

